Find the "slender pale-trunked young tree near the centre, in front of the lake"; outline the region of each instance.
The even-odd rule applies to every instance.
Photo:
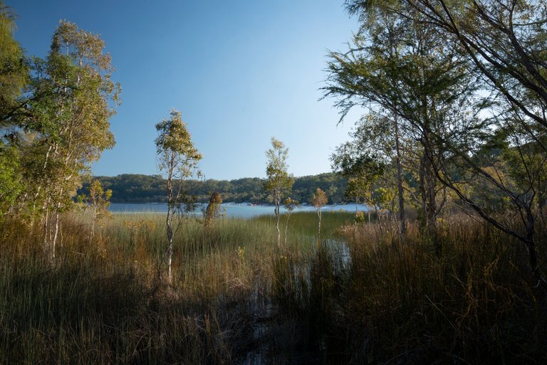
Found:
[[[276,214],[277,245],[281,244],[281,233],[279,231],[279,206],[284,194],[288,194],[294,183],[294,179],[288,174],[287,169],[288,148],[283,142],[271,137],[271,149],[266,151],[266,176],[264,189],[273,196]]]

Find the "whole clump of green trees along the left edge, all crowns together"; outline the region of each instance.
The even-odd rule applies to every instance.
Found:
[[[110,55],[98,35],[61,21],[48,57],[24,60],[13,20],[0,4],[1,179],[11,191],[2,193],[0,206],[4,213],[11,205],[11,215],[31,224],[40,220],[53,259],[61,214],[71,209],[90,164],[115,143],[109,121],[120,85],[110,78]]]

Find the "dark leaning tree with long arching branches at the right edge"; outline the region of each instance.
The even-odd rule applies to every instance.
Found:
[[[371,10],[380,9],[404,20],[419,22],[436,38],[442,39],[447,47],[461,54],[467,65],[474,67],[479,80],[485,80],[480,84],[481,93],[488,96],[478,96],[483,104],[486,101],[497,105],[501,112],[490,108],[489,112],[494,115],[491,119],[493,125],[489,130],[483,128],[482,132],[511,130],[511,134],[506,136],[509,137],[507,142],[517,151],[521,162],[527,165],[526,181],[520,186],[514,184],[507,174],[499,171],[499,164],[493,164],[476,153],[484,151],[486,138],[479,141],[482,143],[475,140],[471,144],[459,144],[455,139],[431,129],[427,130],[426,142],[432,147],[441,148],[437,152],[434,149],[427,151],[427,158],[432,162],[429,167],[437,181],[453,191],[481,218],[526,246],[531,272],[547,290],[547,281],[538,270],[533,238],[536,227],[533,206],[539,195],[536,194],[537,184],[534,181],[539,171],[534,169],[538,164],[534,167],[530,163],[527,151],[527,146],[536,144],[543,149],[542,160],[547,152],[544,141],[547,132],[545,1],[347,1],[347,5],[350,12],[359,14],[362,19],[369,18]],[[447,95],[454,97],[458,94],[452,90]],[[462,117],[462,113],[455,115]],[[443,117],[450,119],[446,114]],[[493,139],[496,136],[486,137]],[[459,175],[464,179],[454,179],[453,171],[447,164],[432,160],[441,157],[446,161],[447,157],[442,153],[447,150],[451,152],[449,159],[457,169],[466,172]],[[505,196],[520,219],[506,221],[497,212],[489,211],[481,201],[467,193],[469,181],[485,183]]]

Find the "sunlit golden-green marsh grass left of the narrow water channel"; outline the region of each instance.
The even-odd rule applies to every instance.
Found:
[[[164,285],[165,216],[115,215],[91,243],[88,218],[65,217],[54,264],[38,230],[4,224],[1,364],[218,364],[254,347],[256,302],[269,302],[279,254],[267,219],[220,219],[207,230],[184,220]]]

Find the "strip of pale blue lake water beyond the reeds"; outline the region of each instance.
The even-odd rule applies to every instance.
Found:
[[[198,206],[194,212],[201,214],[204,205]],[[253,206],[250,204],[223,203],[222,208],[226,209],[226,216],[251,218],[255,216],[273,215],[273,206]],[[323,206],[323,211],[355,211],[355,204],[343,204],[335,206]],[[360,211],[368,211],[368,206],[359,206]],[[167,213],[167,203],[111,203],[110,211],[112,213]],[[313,206],[301,206],[296,211],[315,211]],[[281,213],[285,209],[281,208]]]

